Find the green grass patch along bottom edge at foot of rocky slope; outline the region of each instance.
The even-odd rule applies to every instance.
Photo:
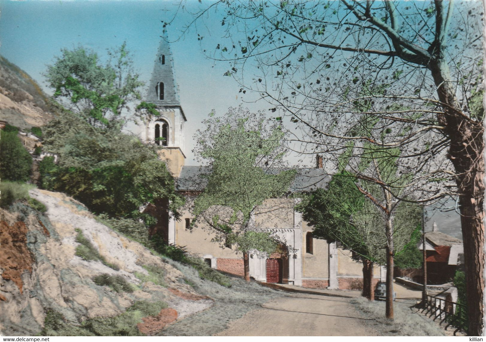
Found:
[[[163,302],[135,302],[115,317],[89,318],[81,325],[66,322],[62,314],[48,310],[40,336],[145,336],[137,329],[142,317],[156,316],[167,308]]]

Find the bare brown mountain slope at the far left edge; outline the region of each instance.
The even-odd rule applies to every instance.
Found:
[[[47,98],[32,77],[0,56],[0,120],[20,129],[43,126],[52,119]]]

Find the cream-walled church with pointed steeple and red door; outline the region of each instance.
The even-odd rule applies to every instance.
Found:
[[[243,256],[231,245],[213,241],[211,228],[198,223],[192,226],[191,201],[204,189],[200,176],[209,170],[203,166],[185,165],[184,128],[187,117],[182,109],[175,80],[174,59],[167,35],[162,37],[145,98],[156,104],[158,116],[139,128],[142,141],[161,146],[159,156],[176,179],[180,194],[187,199],[179,220],[160,208],[163,203],[147,207],[158,223],[152,233],[160,233],[169,244],[184,247],[203,258],[210,267],[229,274],[243,276]],[[329,180],[316,156],[315,167],[297,169],[291,191],[303,193],[324,187]],[[296,196],[298,197],[298,196]],[[272,231],[284,241],[279,253],[250,256],[250,276],[271,283],[293,284],[307,288],[362,290],[362,264],[354,261],[350,251],[335,243],[312,237],[312,226],[295,210],[298,198],[269,198],[256,210],[255,227]],[[269,210],[271,208],[271,210]],[[385,279],[385,268],[375,267],[374,281]]]

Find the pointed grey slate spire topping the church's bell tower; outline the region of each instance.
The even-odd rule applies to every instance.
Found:
[[[158,46],[146,101],[155,103],[157,107],[180,108],[179,94],[174,77],[174,60],[165,29],[162,31]]]

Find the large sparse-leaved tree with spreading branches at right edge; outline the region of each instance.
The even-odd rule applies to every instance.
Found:
[[[414,169],[419,190],[434,190],[421,200],[458,196],[469,334],[480,335],[482,3],[222,0],[201,5],[191,25],[214,21],[213,11],[223,38],[206,46],[198,27],[202,49],[230,62],[225,75],[240,82],[243,94],[253,91],[301,128],[292,131],[302,153],[324,151],[335,162],[350,142],[353,153],[364,143],[399,147],[398,163]],[[365,135],[352,129],[366,122],[360,114],[372,118]]]

